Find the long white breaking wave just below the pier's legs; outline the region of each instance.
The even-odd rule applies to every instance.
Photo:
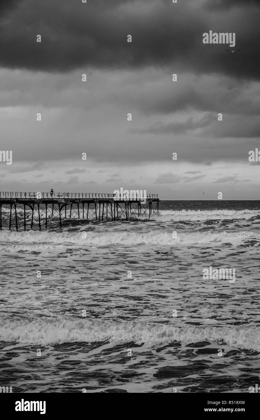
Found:
[[[176,238],[173,239],[171,232],[147,231],[147,233],[137,232],[100,232],[100,231],[78,231],[77,233],[50,232],[50,231],[25,231],[10,232],[2,231],[0,239],[0,251],[36,251],[42,249],[53,249],[67,247],[69,245],[104,247],[109,245],[169,245],[181,246],[189,244],[210,244],[210,243],[233,243],[241,244],[244,240],[255,239],[260,241],[260,231],[205,231],[180,233],[176,229]],[[86,236],[86,237],[85,237]]]

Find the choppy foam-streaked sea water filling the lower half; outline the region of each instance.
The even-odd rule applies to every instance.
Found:
[[[165,201],[150,221],[0,232],[0,386],[248,392],[260,380],[259,251],[257,201]],[[204,280],[210,265],[236,281]]]

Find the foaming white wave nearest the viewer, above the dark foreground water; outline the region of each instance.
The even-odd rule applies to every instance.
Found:
[[[260,351],[260,328],[188,326],[155,323],[114,322],[71,318],[1,318],[0,341],[16,341],[42,346],[71,342],[134,341],[137,344],[183,345],[210,341],[240,349]]]

